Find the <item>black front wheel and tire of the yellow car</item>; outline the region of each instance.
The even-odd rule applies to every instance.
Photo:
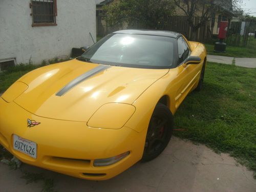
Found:
[[[170,110],[158,103],[148,125],[144,153],[141,161],[150,161],[159,156],[173,135],[174,120]]]

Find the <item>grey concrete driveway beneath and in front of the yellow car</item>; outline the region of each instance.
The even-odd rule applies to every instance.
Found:
[[[255,192],[252,172],[226,154],[173,137],[155,160],[137,163],[107,181],[88,181],[23,165],[29,172],[54,179],[57,191],[232,191]],[[0,191],[41,191],[42,182],[26,185],[20,170],[0,164]]]

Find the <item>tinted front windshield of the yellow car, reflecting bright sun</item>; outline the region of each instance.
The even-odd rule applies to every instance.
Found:
[[[173,65],[174,47],[172,37],[110,34],[78,59],[103,65],[166,69]]]

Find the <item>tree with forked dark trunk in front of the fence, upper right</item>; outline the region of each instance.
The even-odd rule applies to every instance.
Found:
[[[215,17],[216,12],[233,11],[240,9],[243,0],[174,0],[175,5],[185,13],[192,30],[192,39],[196,39],[196,31],[205,25],[207,20]],[[194,22],[199,16],[199,22]]]

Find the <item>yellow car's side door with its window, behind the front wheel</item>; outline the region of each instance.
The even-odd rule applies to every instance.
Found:
[[[175,96],[176,108],[184,100],[186,95],[191,91],[196,82],[196,66],[197,65],[185,65],[187,57],[190,55],[191,51],[186,40],[180,36],[177,39],[178,43],[178,62],[177,62],[177,92]]]

